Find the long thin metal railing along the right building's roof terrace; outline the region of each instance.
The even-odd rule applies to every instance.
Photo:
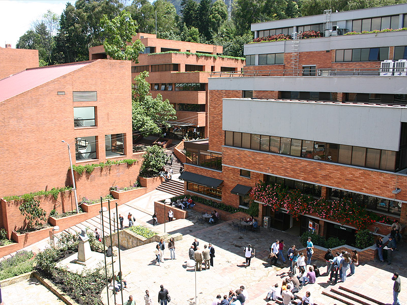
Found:
[[[300,76],[379,76],[380,73],[388,73],[391,76],[398,72],[396,68],[348,68],[348,69],[298,69]],[[257,76],[293,76],[293,69],[284,70],[247,70],[232,72],[211,72],[210,77],[257,77]]]

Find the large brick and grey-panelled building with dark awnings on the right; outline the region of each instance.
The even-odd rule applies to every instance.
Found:
[[[373,19],[384,22],[388,16],[390,20],[397,16],[398,23],[394,22],[402,27],[406,14],[407,5],[396,5],[332,13],[330,18],[342,31],[351,31],[355,20],[365,24],[363,20],[370,18],[373,24]],[[258,37],[270,29],[311,28],[323,18],[252,24],[252,31]],[[332,206],[351,200],[380,217],[406,224],[407,78],[391,69],[381,76],[385,70],[380,67],[384,60],[394,64],[407,59],[398,50],[407,46],[407,31],[301,40],[294,70],[292,44],[287,40],[245,45],[244,72],[228,78],[211,75],[209,140],[185,143],[186,191],[248,207],[251,190],[263,181],[297,190],[310,200],[323,198]],[[361,58],[366,49],[369,55]],[[371,57],[376,51],[378,55]],[[267,62],[270,54],[274,63]],[[276,58],[282,62],[275,63]],[[313,67],[306,69],[307,65]],[[256,202],[260,221],[270,217],[274,228],[302,233],[311,226],[321,235],[355,241],[357,226],[351,221],[313,212],[293,217],[285,208],[274,211],[270,202]],[[375,226],[379,225],[369,228],[381,234],[389,231]]]

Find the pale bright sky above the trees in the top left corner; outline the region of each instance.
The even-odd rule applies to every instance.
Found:
[[[75,0],[0,0],[0,46],[10,43],[12,48],[31,23],[40,19],[47,10],[60,16],[66,3]]]

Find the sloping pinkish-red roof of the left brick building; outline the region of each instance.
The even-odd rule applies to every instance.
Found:
[[[0,102],[45,84],[91,62],[28,69],[0,80]]]

